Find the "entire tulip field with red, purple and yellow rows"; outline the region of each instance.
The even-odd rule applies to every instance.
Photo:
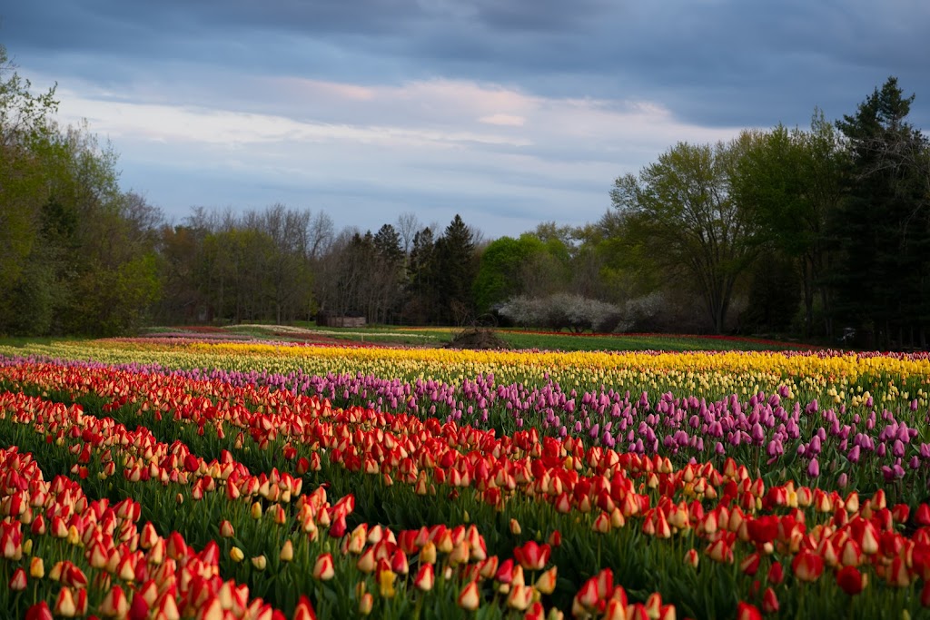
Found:
[[[0,616],[930,617],[930,358],[0,347]]]

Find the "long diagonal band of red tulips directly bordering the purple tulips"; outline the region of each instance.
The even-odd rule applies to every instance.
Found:
[[[120,388],[125,378],[113,380],[111,385]],[[145,380],[154,381],[151,377]],[[924,576],[922,562],[926,534],[922,534],[925,523],[921,520],[926,519],[923,514],[926,508],[923,505],[913,510],[905,505],[888,508],[884,506],[883,492],[860,506],[855,493],[846,496],[828,494],[797,487],[793,483],[766,489],[763,481],[752,479],[745,466],[737,466],[732,460],[727,461],[723,471],[717,471],[710,464],[676,470],[665,458],[618,455],[600,447],[586,448],[582,442],[573,440],[540,439],[531,431],[496,438],[493,433],[458,429],[451,423],[422,422],[417,418],[357,408],[348,411],[329,408],[327,413],[324,403],[316,401],[315,406],[310,405],[312,399],[289,404],[284,402],[286,406],[282,406],[280,399],[286,395],[271,390],[252,390],[248,399],[243,398],[243,402],[262,407],[264,411],[252,411],[242,406],[230,413],[232,410],[217,406],[220,400],[232,393],[222,392],[222,389],[233,389],[229,386],[224,388],[223,384],[210,388],[217,390],[216,401],[205,399],[199,402],[198,409],[187,406],[193,399],[184,402],[180,392],[171,393],[171,380],[179,379],[171,377],[160,388],[153,386],[146,398],[130,408],[137,413],[143,413],[147,408],[149,413],[146,416],[171,414],[172,418],[178,418],[179,423],[200,428],[204,426],[199,422],[206,419],[210,421],[209,429],[216,432],[217,437],[220,432],[227,434],[224,429],[248,429],[247,434],[238,430],[244,433],[243,450],[249,447],[246,442],[256,446],[265,442],[265,447],[272,450],[281,443],[276,436],[272,439],[272,432],[280,433],[288,437],[293,450],[288,458],[286,447],[282,447],[282,456],[286,460],[293,459],[297,471],[301,467],[300,458],[303,457],[299,454],[302,450],[309,448],[311,452],[308,454],[319,458],[322,450],[326,449],[327,460],[342,464],[356,474],[378,474],[373,478],[384,485],[401,481],[417,489],[418,493],[422,491],[423,495],[435,493],[436,485],[460,491],[472,489],[482,500],[501,509],[506,509],[512,502],[508,498],[529,496],[537,502],[545,499],[545,503],[557,513],[587,514],[584,527],[589,528],[589,535],[606,535],[633,528],[657,538],[684,540],[694,536],[703,542],[699,547],[692,545],[684,553],[689,562],[699,558],[698,549],[703,548],[703,554],[711,561],[726,564],[738,560],[744,574],[757,573],[760,564],[769,566],[764,583],[770,583],[763,592],[756,594],[763,601],[769,600],[768,608],[772,611],[777,606],[777,595],[775,589],[770,591],[768,588],[779,585],[777,574],[772,572],[777,573],[780,569],[774,567],[782,564],[782,561],[774,561],[775,557],[784,556],[790,560],[794,578],[801,581],[805,577],[817,580],[824,564],[838,569],[837,580],[842,584],[849,583],[851,575],[873,574],[873,582],[877,577],[883,584],[880,587],[912,589]],[[85,375],[82,381],[89,381],[89,376]],[[82,385],[85,388],[89,386]],[[175,385],[183,387],[183,382]],[[95,387],[105,391],[106,384]],[[162,390],[161,395],[158,389]],[[170,401],[165,401],[168,404],[162,407],[156,402],[161,398],[174,398],[174,406],[180,406],[174,408]],[[296,397],[292,395],[291,398]],[[289,413],[286,411],[288,407],[291,408]],[[210,408],[213,413],[206,415]],[[82,431],[81,439],[86,442],[83,434]],[[62,441],[66,435],[61,436]],[[431,439],[436,441],[430,442]],[[418,442],[414,443],[415,440]],[[398,448],[397,452],[392,453],[391,444]],[[387,446],[388,450],[384,451],[382,446]],[[400,449],[407,455],[397,458],[401,454]],[[479,450],[486,455],[485,458]],[[366,462],[373,463],[375,467],[365,465]],[[200,470],[199,465],[197,470]],[[135,476],[131,473],[132,468],[129,471],[131,480]],[[370,473],[363,473],[365,471]],[[79,475],[80,468],[77,473]],[[457,475],[458,484],[455,480]],[[160,472],[158,477],[162,477]],[[690,503],[685,501],[688,497]],[[785,521],[786,518],[790,521]],[[904,535],[900,527],[908,522],[915,522],[921,527],[911,535]],[[764,523],[765,527],[760,523]],[[761,534],[763,530],[767,534]],[[878,544],[877,547],[872,540]],[[688,542],[697,541],[688,538]],[[751,553],[750,548],[754,549]],[[833,556],[839,560],[833,561]],[[744,565],[744,562],[748,563]],[[870,566],[870,569],[860,568],[862,566]],[[847,568],[854,569],[855,574]],[[844,574],[842,580],[839,577],[841,573]],[[862,582],[860,579],[859,583]],[[591,586],[586,587],[591,589]],[[583,609],[582,605],[577,611],[581,613]]]

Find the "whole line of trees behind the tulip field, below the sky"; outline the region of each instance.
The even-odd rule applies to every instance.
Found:
[[[0,46],[0,335],[326,314],[827,342],[855,330],[847,344],[926,349],[930,148],[912,101],[891,77],[835,121],[815,110],[806,128],[678,143],[605,179],[600,220],[518,238],[413,213],[336,231],[284,204],[168,222],[120,189],[109,144],[55,123],[54,90],[34,94]]]

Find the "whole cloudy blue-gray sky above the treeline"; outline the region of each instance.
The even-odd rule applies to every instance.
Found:
[[[853,113],[889,75],[930,128],[925,0],[17,0],[0,44],[124,190],[485,238],[600,218],[677,141]]]

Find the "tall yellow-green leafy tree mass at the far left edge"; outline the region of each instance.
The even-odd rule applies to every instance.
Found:
[[[113,149],[52,122],[54,89],[30,86],[0,48],[0,331],[137,327],[159,289],[145,209],[120,191]]]

